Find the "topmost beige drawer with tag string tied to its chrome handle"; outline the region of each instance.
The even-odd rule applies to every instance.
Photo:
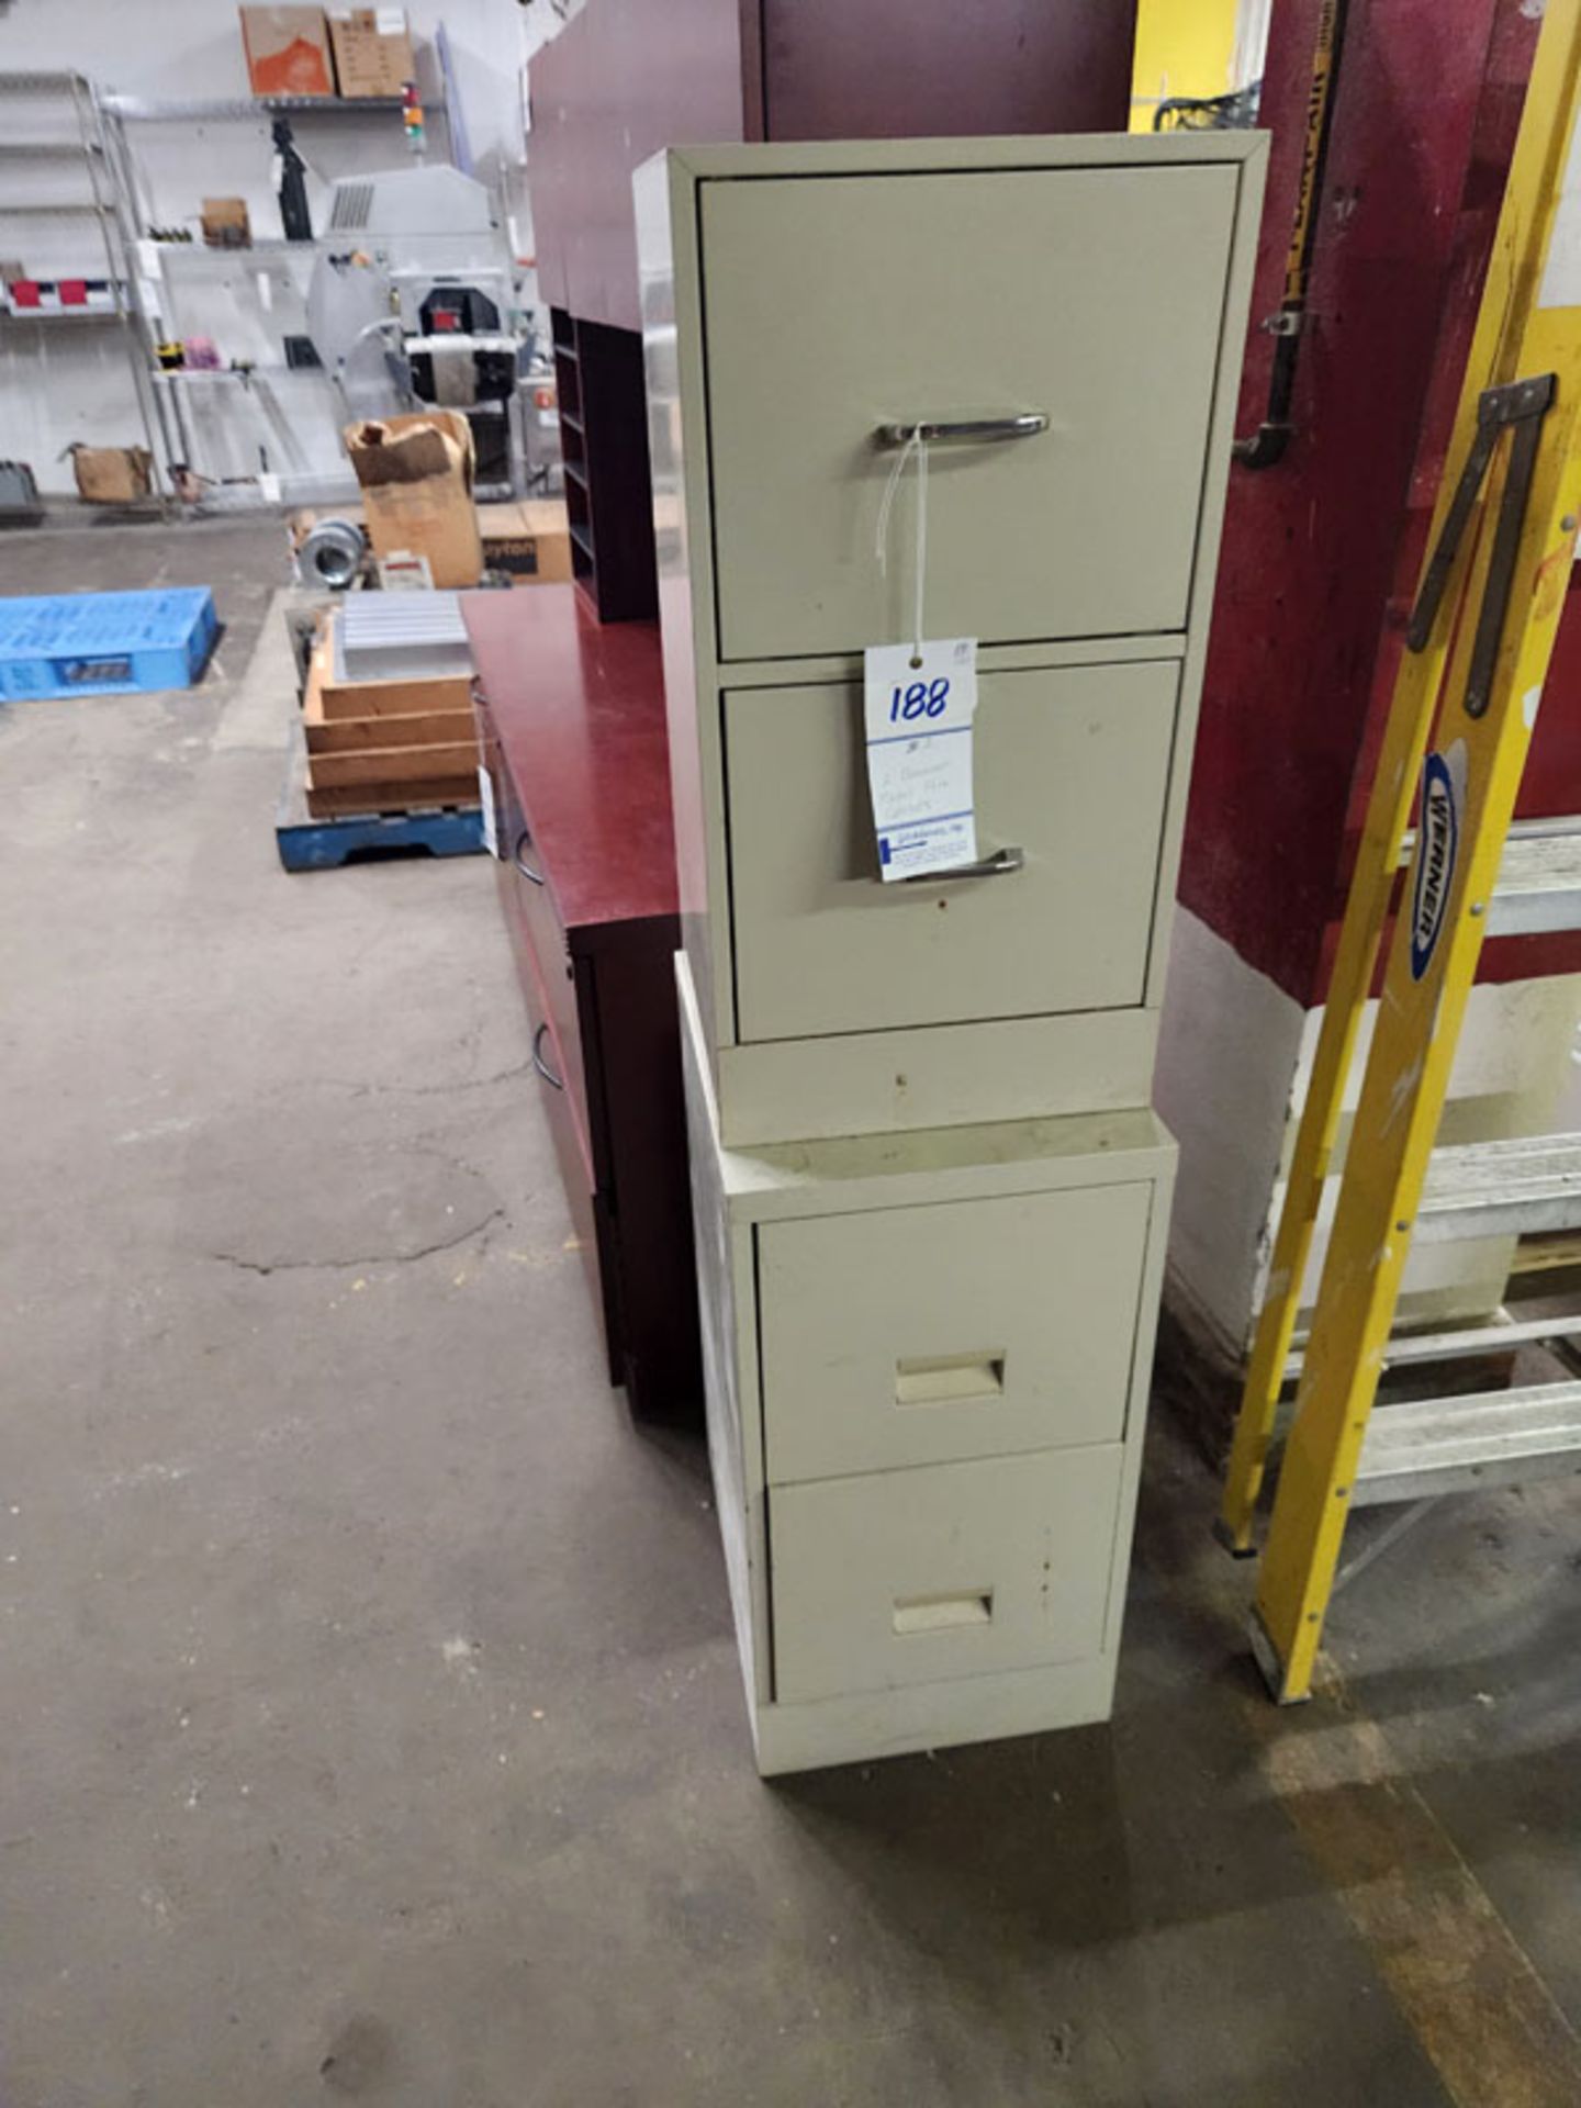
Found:
[[[900,637],[915,485],[885,575],[875,434],[1029,411],[932,449],[928,632],[1185,628],[1235,204],[1206,162],[704,181],[721,658]]]

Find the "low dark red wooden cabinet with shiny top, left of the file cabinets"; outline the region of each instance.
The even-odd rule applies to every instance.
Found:
[[[497,883],[611,1383],[645,1421],[702,1414],[679,944],[658,626],[575,586],[474,592]]]

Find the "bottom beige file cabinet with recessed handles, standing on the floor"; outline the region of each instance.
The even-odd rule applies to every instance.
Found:
[[[725,1149],[677,970],[759,1769],[1105,1718],[1172,1140],[1134,1109]]]

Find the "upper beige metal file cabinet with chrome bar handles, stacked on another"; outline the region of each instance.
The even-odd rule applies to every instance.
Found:
[[[1147,1105],[1265,141],[637,177],[681,909],[729,1147]],[[978,845],[883,885],[862,647],[976,637]]]

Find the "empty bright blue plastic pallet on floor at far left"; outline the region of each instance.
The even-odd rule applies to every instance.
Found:
[[[0,601],[0,698],[192,687],[219,635],[207,586]]]

